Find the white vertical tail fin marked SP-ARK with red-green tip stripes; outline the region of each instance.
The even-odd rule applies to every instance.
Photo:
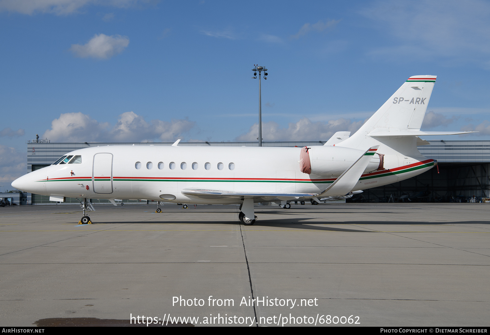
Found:
[[[414,75],[408,78],[355,134],[339,145],[357,147],[355,143],[362,142],[376,128],[382,128],[379,131],[420,130],[436,77]]]

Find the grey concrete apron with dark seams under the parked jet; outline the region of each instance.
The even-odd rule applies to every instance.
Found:
[[[490,204],[95,208],[0,208],[0,326],[490,325]]]

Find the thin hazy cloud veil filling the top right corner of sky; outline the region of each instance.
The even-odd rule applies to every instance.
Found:
[[[403,60],[438,57],[445,64],[490,64],[490,2],[482,0],[377,1],[361,12],[393,38],[373,56]]]

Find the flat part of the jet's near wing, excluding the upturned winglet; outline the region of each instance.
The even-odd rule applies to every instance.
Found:
[[[208,189],[183,189],[182,194],[201,199],[248,199],[265,198],[280,200],[295,200],[299,198],[311,198],[315,193],[260,193],[260,192],[232,192]]]

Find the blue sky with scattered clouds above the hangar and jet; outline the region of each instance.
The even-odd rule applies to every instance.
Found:
[[[354,132],[419,74],[422,130],[490,140],[489,1],[0,0],[0,46],[0,185],[35,134],[256,141],[254,64],[264,141]]]

